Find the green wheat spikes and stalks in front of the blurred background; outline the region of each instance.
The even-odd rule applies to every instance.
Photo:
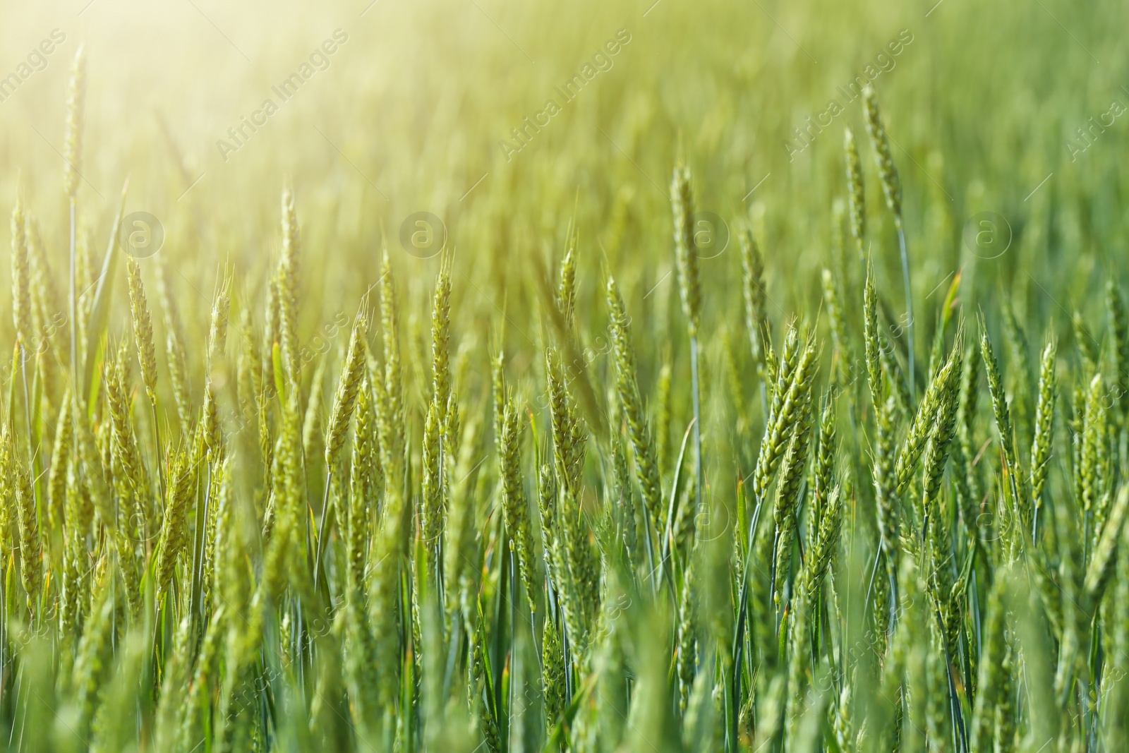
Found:
[[[681,166],[672,259],[691,364],[666,351],[653,406],[636,351],[647,324],[611,278],[605,394],[578,356],[575,231],[559,284],[542,286],[532,368],[546,410],[501,348],[489,386],[460,394],[474,383],[453,367],[452,254],[437,260],[430,358],[403,336],[385,251],[348,341],[309,364],[289,190],[262,317],[225,271],[207,333],[191,331],[154,260],[159,348],[119,220],[100,274],[73,243],[82,90],[80,53],[65,304],[35,218],[20,199],[11,213],[5,746],[1129,747],[1129,315],[1115,283],[1108,326],[1075,317],[1069,367],[1053,336],[1032,352],[1005,306],[1001,369],[991,312],[961,314],[959,274],[919,352],[909,295],[903,339],[866,251],[848,131],[838,214],[857,253],[840,247],[839,273],[824,272],[825,316],[771,321],[764,259],[741,234],[749,340],[723,350],[747,347],[752,367],[730,368],[728,427],[703,426],[700,361],[716,351],[702,347]],[[866,114],[909,294],[873,91]],[[131,321],[112,326],[120,278]],[[52,327],[64,306],[69,326]],[[430,378],[409,385],[405,356]],[[233,365],[236,378],[217,378]],[[676,401],[692,410],[675,456]],[[723,430],[751,458],[734,499],[703,470]]]

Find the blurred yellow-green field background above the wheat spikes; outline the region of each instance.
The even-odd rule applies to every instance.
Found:
[[[130,176],[128,210],[160,219],[161,253],[205,292],[230,260],[257,298],[277,257],[278,195],[289,181],[306,239],[307,326],[376,279],[382,233],[399,252],[404,218],[428,211],[458,249],[456,281],[475,281],[455,286],[456,310],[495,321],[506,307],[522,322],[536,295],[525,284],[531,260],[548,268],[559,256],[575,213],[581,305],[599,299],[603,269],[621,278],[629,307],[662,327],[676,296],[666,277],[667,193],[681,156],[700,210],[732,228],[751,210],[759,218],[769,294],[782,318],[817,306],[816,272],[832,264],[831,208],[844,185],[842,129],[863,133],[860,105],[843,90],[877,71],[904,185],[918,316],[930,326],[939,301],[929,292],[963,268],[972,281],[965,295],[982,303],[1006,290],[1038,332],[1052,315],[1066,324],[1062,309],[1085,308],[1103,273],[1122,264],[1119,167],[1129,117],[1092,126],[1111,120],[1112,103],[1129,105],[1120,42],[1127,15],[1123,3],[1056,0],[6,3],[0,76],[18,75],[54,29],[65,41],[0,102],[0,196],[10,203],[24,182],[63,269],[64,91],[82,44],[80,221],[104,247]],[[347,42],[282,102],[272,87],[335,29]],[[566,103],[555,87],[621,29],[630,42],[610,56],[611,68]],[[879,58],[899,38],[911,41]],[[217,142],[235,143],[228,129],[266,98],[278,112],[225,160]],[[519,151],[502,148],[502,140],[517,145],[511,129],[549,98],[561,112]],[[809,146],[797,151],[795,129],[808,128],[808,117],[826,122],[832,100],[843,112],[809,129]],[[1078,128],[1095,133],[1092,143]],[[867,180],[872,252],[896,300],[892,226],[873,170]],[[981,211],[1003,216],[1013,236],[990,261],[961,243]],[[409,284],[430,284],[437,257],[400,256]],[[736,301],[736,254],[702,268],[706,321],[717,325],[725,301]],[[844,274],[857,283],[854,264]],[[458,303],[467,297],[476,300]],[[201,322],[205,314],[201,305]],[[523,335],[506,338],[535,352]]]

